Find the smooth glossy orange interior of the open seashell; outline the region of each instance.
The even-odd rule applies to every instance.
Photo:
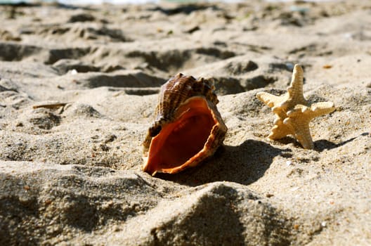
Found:
[[[176,120],[152,138],[144,171],[175,173],[193,166],[217,123],[203,97],[193,97],[176,111]]]

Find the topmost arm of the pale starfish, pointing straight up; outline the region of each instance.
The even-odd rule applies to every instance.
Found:
[[[292,106],[296,104],[307,104],[303,93],[303,81],[303,69],[299,64],[296,64],[294,66],[294,70],[292,71],[291,84],[287,88],[287,91],[289,93],[289,101]]]

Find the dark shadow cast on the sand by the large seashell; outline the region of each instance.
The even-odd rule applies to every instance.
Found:
[[[231,181],[247,185],[254,183],[270,167],[275,156],[291,157],[289,149],[274,148],[268,143],[247,140],[241,145],[225,145],[215,155],[197,167],[179,174],[157,174],[157,178],[188,186],[215,181]]]

